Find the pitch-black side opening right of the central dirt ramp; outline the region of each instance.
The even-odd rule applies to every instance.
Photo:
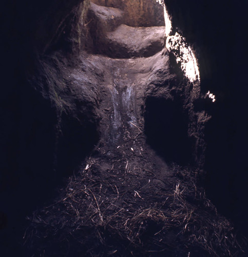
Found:
[[[179,100],[149,97],[144,117],[147,143],[168,162],[190,163],[188,121]]]

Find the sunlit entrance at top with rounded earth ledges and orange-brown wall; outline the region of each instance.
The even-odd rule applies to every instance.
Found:
[[[111,58],[149,57],[163,49],[163,8],[156,1],[91,1],[86,48]]]

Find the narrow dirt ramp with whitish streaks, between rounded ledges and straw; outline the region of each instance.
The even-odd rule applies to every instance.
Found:
[[[129,177],[124,188],[133,185],[133,192],[145,185],[151,192],[158,189],[158,184],[164,189],[171,188],[167,164],[146,144],[143,117],[147,81],[158,62],[166,67],[168,57],[158,52],[150,58],[111,59],[89,55],[87,59],[105,67],[100,103],[102,137],[96,149],[96,163],[99,167],[109,167],[104,172],[116,174],[118,180]],[[93,157],[90,161],[94,163]]]

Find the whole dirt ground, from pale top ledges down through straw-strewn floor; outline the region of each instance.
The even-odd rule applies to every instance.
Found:
[[[199,170],[168,165],[146,143],[145,95],[168,94],[155,85],[175,80],[164,27],[121,24],[115,8],[92,4],[91,12],[119,19],[101,54],[84,52],[70,74],[101,86],[101,138],[56,199],[28,217],[26,256],[247,256],[199,186]]]

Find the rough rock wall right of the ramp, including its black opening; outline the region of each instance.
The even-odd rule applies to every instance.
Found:
[[[200,93],[200,83],[188,81],[179,71],[174,56],[168,56],[169,69],[161,68],[158,63],[147,81],[144,114],[147,140],[168,162],[197,167],[202,179],[205,126],[211,118],[203,105],[210,100]]]

